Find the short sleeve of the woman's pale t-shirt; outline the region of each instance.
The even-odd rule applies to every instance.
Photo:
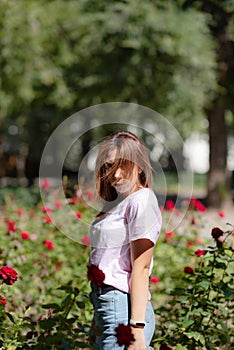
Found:
[[[158,201],[149,189],[135,192],[126,211],[129,241],[147,238],[156,243],[162,225]]]

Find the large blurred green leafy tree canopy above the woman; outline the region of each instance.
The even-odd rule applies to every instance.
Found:
[[[216,84],[200,11],[159,0],[0,6],[1,117],[21,118],[29,156],[39,157],[44,142],[34,146],[32,129],[49,135],[72,112],[109,101],[150,107],[184,137],[199,128]]]

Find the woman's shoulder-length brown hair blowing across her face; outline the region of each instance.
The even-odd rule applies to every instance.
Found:
[[[114,154],[114,160],[110,165],[111,154]],[[139,168],[136,181],[142,187],[152,188],[152,167],[143,142],[129,131],[117,131],[107,136],[101,143],[96,161],[95,183],[99,196],[105,201],[114,201],[117,192],[111,179],[116,170],[122,167],[127,175],[133,176],[136,166]]]

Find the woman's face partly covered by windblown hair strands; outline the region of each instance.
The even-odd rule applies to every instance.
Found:
[[[110,152],[108,160],[105,163],[107,172],[109,171],[111,173],[109,180],[111,186],[113,186],[118,193],[128,195],[139,188],[139,167],[137,164],[131,164],[131,168],[129,169],[129,166],[127,166],[129,162],[124,160],[119,166],[115,166],[115,161],[118,161],[115,155],[115,151]],[[114,167],[114,169],[112,167]]]

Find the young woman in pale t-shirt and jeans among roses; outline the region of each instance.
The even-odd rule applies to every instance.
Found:
[[[94,349],[124,349],[115,336],[122,323],[131,325],[135,339],[128,350],[150,349],[155,315],[148,285],[161,213],[144,144],[128,131],[108,136],[95,174],[102,210],[90,231],[91,343]]]

